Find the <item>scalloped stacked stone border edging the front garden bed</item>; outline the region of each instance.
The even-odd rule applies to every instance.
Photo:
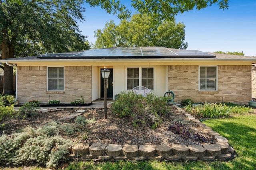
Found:
[[[227,161],[234,158],[235,151],[228,144],[228,139],[220,136],[212,128],[201,123],[198,119],[190,115],[178,106],[178,111],[183,113],[187,119],[193,121],[203,131],[208,133],[211,137],[216,139],[216,143],[210,145],[116,145],[110,144],[108,146],[101,143],[78,143],[69,148],[70,158],[82,158],[85,160],[168,160],[168,161],[196,161],[196,160],[222,160]],[[84,110],[85,111],[85,110]],[[83,111],[77,111],[74,115],[80,115]]]

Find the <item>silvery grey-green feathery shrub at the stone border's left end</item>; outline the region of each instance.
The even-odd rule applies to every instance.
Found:
[[[70,143],[56,135],[54,125],[34,129],[26,127],[20,133],[0,137],[0,163],[26,164],[38,162],[48,168],[65,159]]]

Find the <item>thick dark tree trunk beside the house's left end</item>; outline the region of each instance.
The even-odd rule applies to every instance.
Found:
[[[2,43],[0,45],[2,51],[2,59],[10,59],[14,57],[14,48],[12,45]],[[12,66],[8,66],[4,63],[4,79],[3,79],[3,95],[4,94],[14,94],[13,90],[13,80],[12,80]]]

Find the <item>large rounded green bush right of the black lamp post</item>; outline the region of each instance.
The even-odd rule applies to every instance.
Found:
[[[133,125],[149,126],[155,129],[162,122],[161,115],[168,113],[168,106],[164,97],[148,94],[147,97],[134,92],[121,92],[112,104],[112,113],[120,117],[132,117]]]

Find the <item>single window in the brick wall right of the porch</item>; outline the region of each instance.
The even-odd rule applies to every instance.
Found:
[[[200,66],[200,91],[217,90],[217,67]]]

